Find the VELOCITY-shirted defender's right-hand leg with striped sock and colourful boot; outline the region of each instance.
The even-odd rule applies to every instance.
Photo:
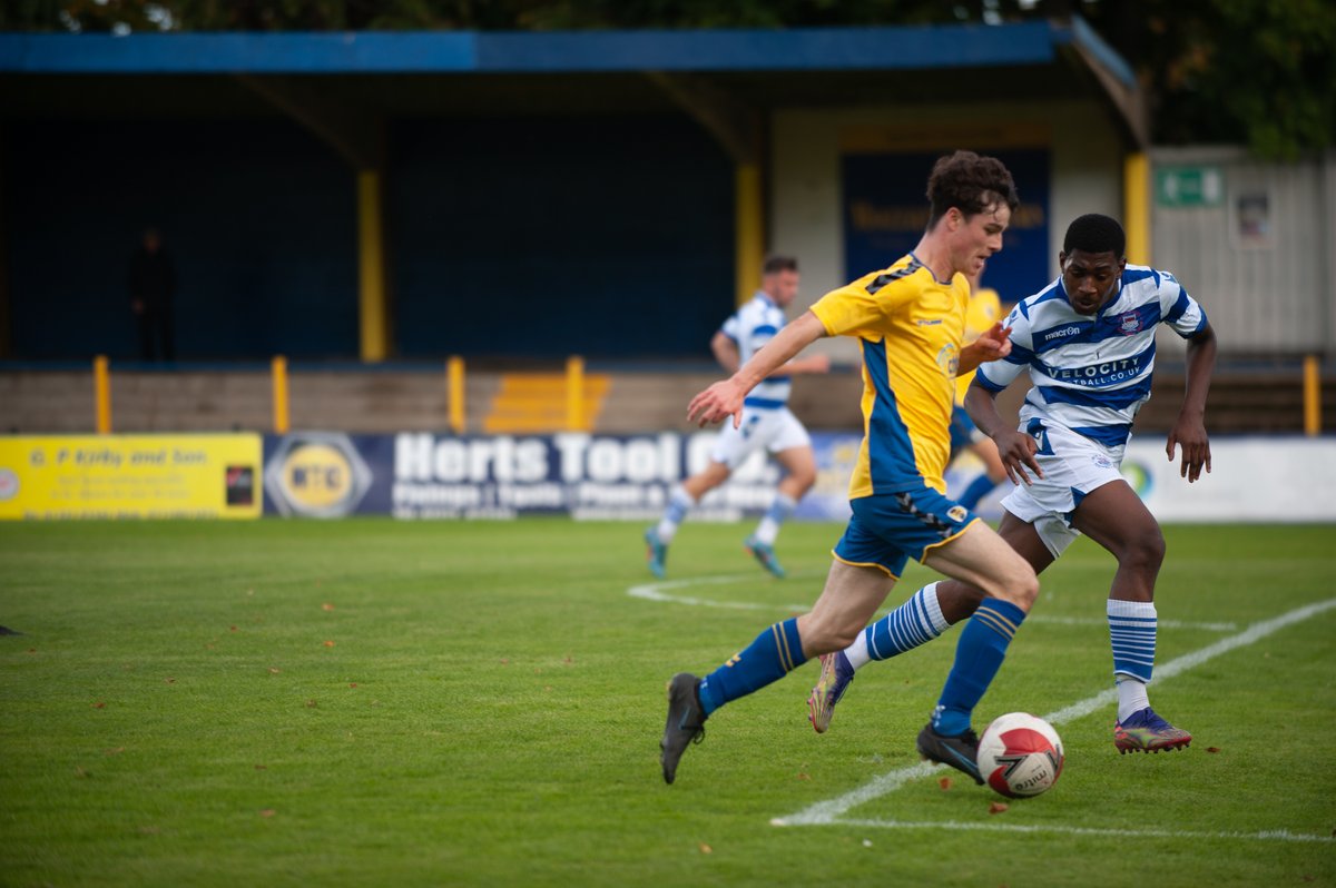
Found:
[[[1122,481],[1086,494],[1071,523],[1118,560],[1109,590],[1109,641],[1118,688],[1113,742],[1120,753],[1180,749],[1192,734],[1156,714],[1146,685],[1156,664],[1156,578],[1165,557],[1164,534],[1141,497]]]

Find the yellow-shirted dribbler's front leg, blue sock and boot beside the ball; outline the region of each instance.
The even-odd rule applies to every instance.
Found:
[[[982,589],[985,598],[961,632],[955,662],[918,750],[983,783],[977,764],[978,736],[971,726],[975,705],[993,682],[1006,649],[1039,593],[1034,569],[991,527],[975,521],[923,558],[933,570]]]

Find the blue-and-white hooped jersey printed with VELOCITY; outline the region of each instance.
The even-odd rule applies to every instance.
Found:
[[[1093,318],[1071,308],[1059,276],[1017,303],[1006,319],[1011,354],[981,365],[977,378],[1001,391],[1029,367],[1034,386],[1021,427],[1038,419],[1118,447],[1150,398],[1161,323],[1185,339],[1206,326],[1201,306],[1168,271],[1126,266],[1117,295]]]

